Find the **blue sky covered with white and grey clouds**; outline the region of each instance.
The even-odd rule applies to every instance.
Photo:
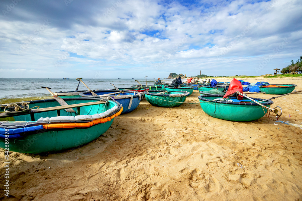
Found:
[[[1,0],[0,77],[272,74],[302,55],[302,1]]]

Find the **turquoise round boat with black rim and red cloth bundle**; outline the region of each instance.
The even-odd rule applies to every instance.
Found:
[[[254,121],[263,117],[267,112],[267,109],[245,98],[240,100],[240,102],[236,99],[233,99],[232,102],[214,100],[222,97],[223,95],[202,95],[198,96],[198,99],[205,113],[212,117],[229,121]],[[264,100],[258,98],[252,99],[256,101]],[[261,103],[269,107],[274,102],[269,100]]]

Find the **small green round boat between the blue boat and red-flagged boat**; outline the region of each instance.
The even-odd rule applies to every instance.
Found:
[[[187,91],[168,91],[165,94],[162,94],[165,91],[144,91],[146,100],[154,106],[159,107],[175,107],[181,105],[185,102],[189,92]],[[161,94],[160,94],[161,93]]]

